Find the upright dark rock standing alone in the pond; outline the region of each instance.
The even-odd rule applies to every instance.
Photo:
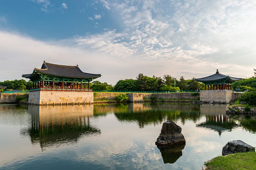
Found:
[[[168,147],[184,144],[186,144],[186,141],[183,134],[181,133],[181,127],[170,120],[163,122],[161,133],[157,138],[156,145]]]

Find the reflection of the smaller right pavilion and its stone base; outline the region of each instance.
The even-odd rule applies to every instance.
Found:
[[[205,122],[199,123],[196,127],[217,131],[221,136],[223,131],[232,131],[239,127],[235,121],[226,116],[226,105],[224,104],[203,104],[200,111],[205,115]]]

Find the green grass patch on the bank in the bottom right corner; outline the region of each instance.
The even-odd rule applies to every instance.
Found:
[[[209,170],[256,170],[256,152],[218,156],[205,165]]]

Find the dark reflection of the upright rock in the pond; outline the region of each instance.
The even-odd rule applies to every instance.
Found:
[[[182,149],[185,145],[178,145],[173,147],[157,146],[161,152],[164,163],[174,163],[182,156]]]

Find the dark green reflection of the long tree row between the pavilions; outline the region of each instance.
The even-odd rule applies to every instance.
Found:
[[[128,108],[124,105],[123,109],[118,108],[113,112],[119,121],[137,122],[139,128],[161,124],[166,120],[181,120],[184,125],[186,120],[197,121],[201,116],[200,105],[189,103],[130,103]]]

